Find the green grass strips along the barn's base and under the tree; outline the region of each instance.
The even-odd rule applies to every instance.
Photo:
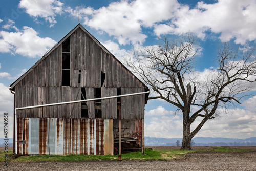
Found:
[[[211,152],[248,152],[248,150],[232,149],[231,147],[212,146]],[[122,160],[179,160],[186,153],[205,152],[196,150],[152,150],[145,149],[145,155],[141,151],[122,154]],[[29,162],[29,161],[86,161],[86,160],[117,160],[117,155],[27,155],[14,159],[12,151],[8,152],[11,162]],[[5,153],[0,152],[0,162],[5,161]]]

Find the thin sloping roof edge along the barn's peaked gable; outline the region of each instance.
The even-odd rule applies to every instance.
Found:
[[[90,38],[92,38],[96,44],[102,49],[104,50],[107,54],[113,56],[115,58],[115,60],[117,60],[119,63],[121,63],[108,49],[106,49],[93,35],[91,35],[91,33],[89,33],[80,23],[73,29],[71,30],[65,37],[63,37],[56,45],[54,45],[44,56],[42,56],[42,58],[40,60],[38,60],[35,65],[33,65],[26,73],[24,73],[22,76],[20,76],[16,81],[14,81],[11,85],[10,85],[10,90],[15,91],[14,87],[16,86],[16,84],[22,80],[24,77],[26,77],[42,60],[44,60],[52,51],[54,51],[59,45],[62,44],[63,41],[65,41],[72,33],[74,33],[78,28],[81,28]],[[127,70],[129,71],[132,75],[134,75],[129,69],[127,69],[122,63],[121,65]],[[138,79],[135,75],[134,77],[136,79]],[[139,79],[138,79],[139,80]],[[140,80],[139,80],[140,81]],[[142,82],[140,81],[143,86],[148,89],[148,87]]]

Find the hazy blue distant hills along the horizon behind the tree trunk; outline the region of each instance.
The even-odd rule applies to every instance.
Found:
[[[176,146],[177,140],[182,142],[182,138],[145,137],[145,146]],[[256,137],[246,139],[196,137],[192,140],[195,142],[194,146],[256,146]]]

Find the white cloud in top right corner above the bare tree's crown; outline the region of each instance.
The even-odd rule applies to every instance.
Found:
[[[211,31],[221,33],[222,41],[234,38],[237,44],[245,44],[256,39],[255,8],[254,0],[219,0],[215,4],[201,1],[194,9],[182,6],[168,25],[156,25],[154,31],[156,35],[194,32],[202,39],[206,36],[205,31]]]

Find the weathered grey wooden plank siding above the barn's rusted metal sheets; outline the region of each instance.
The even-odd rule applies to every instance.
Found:
[[[121,88],[122,94],[144,91],[144,85],[82,29],[78,28],[70,35],[70,45],[70,86],[61,86],[62,46],[59,45],[16,84],[15,108],[80,100],[80,87],[85,88],[87,99],[94,98],[94,88],[101,88],[102,97],[117,95],[117,87]],[[105,74],[102,87],[101,72]],[[122,97],[121,101],[121,104],[125,103],[122,119],[144,117],[145,95]],[[116,99],[102,100],[102,119],[117,118],[116,104]],[[89,118],[95,118],[94,102],[87,102],[87,105],[91,109]],[[17,117],[81,118],[81,104],[19,110]]]

